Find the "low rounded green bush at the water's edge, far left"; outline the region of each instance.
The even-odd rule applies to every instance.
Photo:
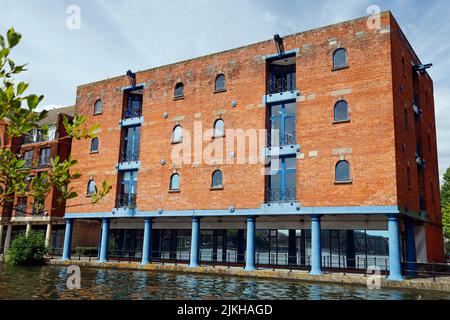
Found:
[[[21,233],[11,244],[6,253],[6,263],[12,265],[36,265],[44,262],[47,253],[45,235],[30,231]]]

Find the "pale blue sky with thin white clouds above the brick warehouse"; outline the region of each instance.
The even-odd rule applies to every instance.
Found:
[[[69,5],[81,28],[66,27]],[[450,166],[450,4],[435,1],[0,0],[0,31],[24,36],[14,53],[43,106],[72,105],[76,86],[391,10],[422,62],[432,62],[441,175]]]

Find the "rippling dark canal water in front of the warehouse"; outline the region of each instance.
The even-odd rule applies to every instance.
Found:
[[[61,266],[0,264],[0,299],[450,299],[431,291],[89,267],[81,267],[81,288],[70,290],[69,276]]]

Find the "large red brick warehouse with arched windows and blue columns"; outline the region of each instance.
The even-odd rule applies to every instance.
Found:
[[[101,261],[442,261],[433,82],[390,12],[367,20],[79,86],[101,129],[73,187],[113,192],[70,201],[66,244],[102,219]]]

